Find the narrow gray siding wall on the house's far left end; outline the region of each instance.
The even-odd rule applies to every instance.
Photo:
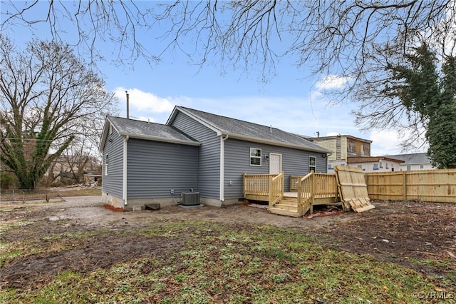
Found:
[[[109,158],[107,176],[105,175],[106,156]],[[119,136],[115,131],[106,138],[102,166],[103,193],[123,198],[123,137]]]

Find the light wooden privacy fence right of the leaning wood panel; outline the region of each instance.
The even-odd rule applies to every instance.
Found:
[[[371,199],[456,203],[456,169],[366,173],[366,183]]]

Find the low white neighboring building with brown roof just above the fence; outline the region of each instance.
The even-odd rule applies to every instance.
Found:
[[[400,166],[403,162],[390,156],[355,156],[347,158],[347,166],[358,167],[366,173],[400,171]]]

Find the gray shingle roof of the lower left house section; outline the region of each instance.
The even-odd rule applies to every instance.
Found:
[[[120,135],[156,141],[187,143],[195,146],[199,145],[197,141],[172,126],[115,116],[108,116],[107,118]]]

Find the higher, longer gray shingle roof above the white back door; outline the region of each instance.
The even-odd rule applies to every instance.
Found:
[[[291,146],[293,148],[300,148],[308,151],[316,151],[318,153],[331,153],[326,148],[318,146],[316,143],[306,140],[302,136],[296,136],[293,133],[281,131],[279,128],[272,128],[270,126],[263,126],[257,123],[249,123],[236,118],[229,118],[226,116],[219,116],[204,111],[198,111],[192,108],[185,108],[176,106],[173,111],[168,124],[172,123],[176,110],[182,111],[187,115],[193,116],[200,121],[206,123],[208,126],[219,131],[224,135],[232,136],[233,138],[241,138],[249,141],[264,142],[276,146]]]

